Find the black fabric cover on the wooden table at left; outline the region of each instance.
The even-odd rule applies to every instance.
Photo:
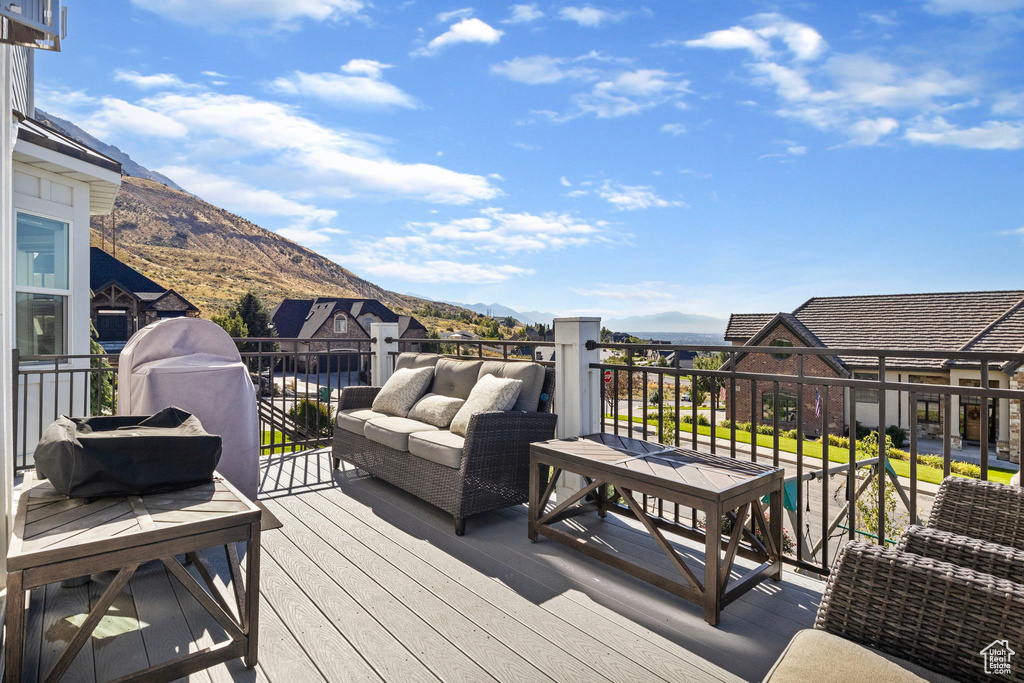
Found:
[[[60,416],[35,455],[39,476],[71,498],[197,486],[213,478],[219,460],[220,437],[176,408],[154,416]]]

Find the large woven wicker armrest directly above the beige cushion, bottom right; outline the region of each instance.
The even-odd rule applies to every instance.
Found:
[[[980,680],[982,649],[1008,638],[1020,643],[1024,585],[851,542],[840,551],[814,626],[952,678]],[[1024,665],[1014,661],[1010,680],[1024,681]]]

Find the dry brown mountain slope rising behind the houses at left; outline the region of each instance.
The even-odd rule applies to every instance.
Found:
[[[255,291],[269,305],[286,298],[379,299],[402,311],[425,301],[369,283],[334,261],[212,204],[160,182],[123,176],[112,216],[92,219],[92,245],[182,294],[204,316]],[[459,308],[433,304],[445,312]],[[428,321],[421,319],[428,328]]]

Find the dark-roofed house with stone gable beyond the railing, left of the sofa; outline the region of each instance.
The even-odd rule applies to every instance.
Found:
[[[317,364],[327,368],[314,354],[318,351],[352,350],[369,352],[371,325],[397,323],[399,339],[423,339],[427,330],[412,315],[398,315],[377,299],[348,299],[318,297],[316,299],[285,299],[271,314],[279,337],[302,339],[302,342],[283,342],[282,350],[298,353],[298,365],[309,367]],[[399,351],[417,351],[419,343],[399,342]],[[306,359],[309,359],[307,364]],[[314,360],[315,359],[315,360]],[[364,364],[352,356],[342,369],[355,369]],[[338,369],[335,357],[331,370]]]

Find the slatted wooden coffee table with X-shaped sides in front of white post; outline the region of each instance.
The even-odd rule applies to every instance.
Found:
[[[591,434],[573,439],[555,439],[530,445],[529,539],[538,535],[565,544],[617,569],[651,583],[681,598],[703,606],[705,620],[717,626],[722,609],[761,581],[780,581],[782,562],[782,482],[780,468],[710,456],[660,443],[615,436]],[[563,472],[582,475],[583,488],[547,510],[555,481]],[[766,518],[761,499],[770,496]],[[625,505],[617,503],[618,499]],[[639,499],[639,500],[638,500]],[[653,499],[651,511],[648,499]],[[657,503],[657,499],[664,503]],[[705,516],[706,529],[695,522],[664,514],[676,504]],[[572,536],[553,524],[588,512],[602,517],[616,512],[638,519],[683,575],[684,582],[669,579],[624,560],[595,544]],[[728,539],[722,537],[723,519],[731,520]],[[748,523],[750,520],[750,523]],[[663,530],[696,539],[705,544],[706,560],[701,581],[687,566]],[[722,552],[725,556],[723,558]],[[730,585],[736,556],[760,562]]]

